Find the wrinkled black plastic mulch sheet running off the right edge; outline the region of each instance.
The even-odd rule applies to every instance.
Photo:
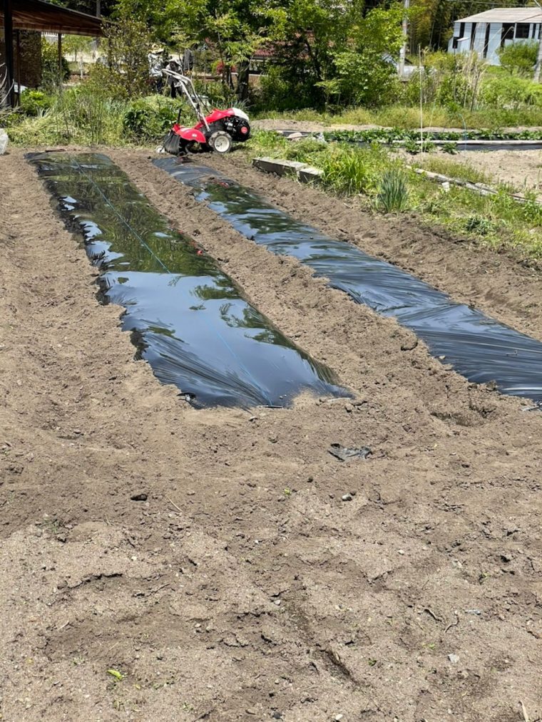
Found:
[[[542,401],[542,343],[454,303],[396,266],[334,240],[268,204],[257,193],[211,168],[160,158],[155,165],[196,188],[196,198],[239,232],[270,251],[298,258],[384,316],[395,316],[428,345],[431,354],[468,380],[495,382],[499,391]]]

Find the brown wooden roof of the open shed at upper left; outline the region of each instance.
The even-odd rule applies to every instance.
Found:
[[[4,25],[4,6],[0,4],[0,24]],[[103,35],[99,17],[52,5],[43,0],[12,0],[13,29],[62,32],[69,35]]]

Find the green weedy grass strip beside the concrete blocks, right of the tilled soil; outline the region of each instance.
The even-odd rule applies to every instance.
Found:
[[[421,219],[437,223],[457,234],[496,250],[514,250],[524,258],[542,258],[542,207],[528,196],[525,204],[509,196],[509,188],[497,186],[495,196],[451,186],[444,192],[439,183],[406,168],[381,144],[355,147],[343,142],[322,143],[314,139],[291,142],[270,131],[254,134],[246,149],[251,155],[286,157],[315,165],[324,171],[323,183],[337,195],[359,195],[367,208],[384,212],[413,210]],[[491,180],[473,166],[428,157],[423,167],[468,181]]]

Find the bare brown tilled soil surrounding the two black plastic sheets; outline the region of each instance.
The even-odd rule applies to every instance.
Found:
[[[2,719],[541,716],[541,415],[250,243],[145,154],[111,157],[354,398],[192,409],[134,361],[22,154],[2,157]],[[258,187],[339,224],[310,211],[319,191]],[[340,210],[361,243],[363,214]],[[366,223],[384,243],[392,226]],[[485,278],[461,249],[481,277],[457,269],[458,296]],[[509,279],[495,315],[533,332],[538,306],[522,313],[511,289],[535,271],[494,263],[489,287]],[[372,454],[343,463],[333,442]]]

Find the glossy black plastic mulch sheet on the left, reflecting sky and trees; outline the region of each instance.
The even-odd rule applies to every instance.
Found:
[[[126,308],[139,356],[196,406],[286,406],[296,394],[348,396],[206,253],[171,229],[105,155],[32,154],[66,225],[82,232],[106,301]]]

